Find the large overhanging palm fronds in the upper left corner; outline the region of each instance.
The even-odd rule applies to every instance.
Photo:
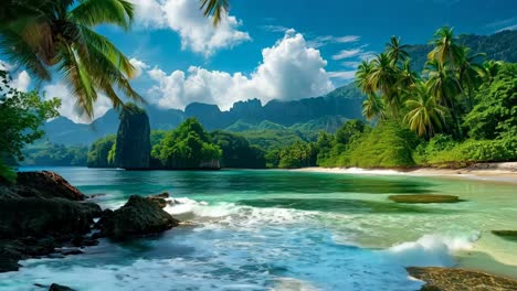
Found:
[[[105,36],[93,29],[114,24],[129,29],[134,6],[126,0],[9,0],[13,14],[0,15],[0,50],[11,62],[49,80],[57,71],[77,105],[93,117],[99,94],[114,107],[124,105],[118,91],[144,101],[129,85],[136,69]]]

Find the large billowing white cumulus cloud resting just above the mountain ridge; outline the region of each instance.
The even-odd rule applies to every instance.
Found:
[[[170,74],[158,67],[148,71],[157,84],[149,90],[152,103],[166,108],[184,108],[200,101],[229,109],[238,100],[260,98],[293,100],[319,96],[334,89],[327,61],[304,36],[288,30],[273,46],[262,51],[262,63],[246,76],[242,73],[190,67]]]

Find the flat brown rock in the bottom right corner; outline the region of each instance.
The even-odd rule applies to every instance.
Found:
[[[425,282],[422,291],[517,290],[517,281],[493,274],[463,269],[410,267],[408,272]]]

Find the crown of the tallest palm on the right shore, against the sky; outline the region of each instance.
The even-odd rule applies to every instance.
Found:
[[[456,44],[454,30],[447,26],[439,29],[431,42],[434,44],[434,48],[429,53],[428,58],[437,60],[442,65],[450,63],[455,69],[457,61],[461,58],[462,47]]]

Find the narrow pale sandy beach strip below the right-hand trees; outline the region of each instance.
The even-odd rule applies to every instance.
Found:
[[[488,182],[506,182],[517,184],[517,162],[478,163],[462,169],[361,169],[361,168],[302,168],[291,171],[333,174],[366,174],[366,175],[408,175],[440,176],[451,179],[468,179]]]

